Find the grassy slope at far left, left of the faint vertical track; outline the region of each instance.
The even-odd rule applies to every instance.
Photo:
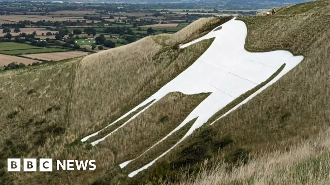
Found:
[[[11,156],[55,156],[51,153],[60,145],[55,148],[50,145],[63,142],[61,135],[66,130],[66,106],[76,65],[74,60],[0,74],[1,164]],[[63,154],[63,146],[57,154]],[[23,172],[6,172],[0,178],[4,184],[12,184],[16,177],[18,181],[25,179],[33,184],[29,176]]]

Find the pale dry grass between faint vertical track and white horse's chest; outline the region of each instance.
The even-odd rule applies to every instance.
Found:
[[[155,63],[153,57],[161,52],[164,47],[179,44],[190,38],[199,30],[198,28],[204,26],[209,20],[212,20],[212,18],[200,19],[192,24],[193,26],[173,35],[147,37],[120,48],[101,51],[83,58],[77,71],[70,122],[86,128],[78,129],[75,132],[77,136],[96,129],[107,118],[113,119],[118,117],[118,114],[123,114],[123,111],[128,111],[127,107],[121,105],[122,102],[129,102],[126,106],[130,108],[133,108],[138,102],[142,102],[146,98],[146,94],[140,94],[137,97],[137,93],[140,93],[139,91],[143,90],[142,87],[172,62],[169,58],[160,63]],[[155,42],[155,40],[162,37],[167,38],[167,40],[164,39],[166,41],[165,46]],[[127,51],[131,52],[128,54]],[[186,61],[182,60],[182,62]],[[170,71],[170,74],[174,73],[176,71]],[[170,74],[168,75],[171,76]],[[159,81],[156,80],[158,83]],[[93,84],[99,85],[94,86]],[[158,86],[156,83],[155,87]],[[150,92],[144,93],[149,94]],[[108,94],[111,94],[111,96]],[[81,96],[86,96],[89,101],[82,101]],[[93,127],[90,127],[90,125],[93,125]]]

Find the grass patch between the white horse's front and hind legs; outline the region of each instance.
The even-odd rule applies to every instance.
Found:
[[[109,168],[115,163],[134,159],[142,154],[174,130],[207,96],[208,94],[198,96],[179,92],[165,95],[97,146],[110,148],[113,153],[113,160],[108,160],[110,164],[104,164],[104,166]],[[111,156],[111,153],[108,155]]]

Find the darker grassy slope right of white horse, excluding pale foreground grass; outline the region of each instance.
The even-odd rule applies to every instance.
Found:
[[[259,156],[264,150],[285,150],[316,136],[322,128],[329,126],[330,15],[239,19],[248,27],[247,50],[266,52],[284,49],[294,55],[303,55],[304,60],[214,125],[205,125],[195,131],[149,167],[144,175],[158,178],[171,174],[173,169],[188,168],[189,163],[189,172],[192,172],[199,168],[197,164],[204,158],[212,157],[223,157],[225,162],[236,164],[240,154]]]

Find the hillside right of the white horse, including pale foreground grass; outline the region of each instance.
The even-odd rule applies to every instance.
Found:
[[[210,180],[216,179],[222,184],[272,184],[275,181],[280,184],[321,184],[320,182],[329,179],[327,174],[309,171],[314,168],[311,163],[313,161],[316,162],[315,165],[321,165],[320,168],[325,168],[323,162],[318,162],[321,163],[320,159],[326,160],[329,156],[327,141],[315,141],[315,137],[329,127],[330,118],[330,15],[322,14],[330,10],[328,2],[315,1],[291,6],[285,9],[286,13],[284,10],[279,11],[279,16],[239,18],[248,27],[245,45],[248,51],[284,49],[294,55],[303,55],[304,60],[248,103],[212,126],[203,125],[147,172],[138,174],[140,178],[147,178],[146,174],[149,174],[148,178],[155,181],[165,179],[164,174],[168,174],[170,181],[180,181],[181,176],[187,175],[180,171],[181,167],[188,173],[193,173],[194,170],[199,172],[203,167],[201,174],[205,175],[213,172],[209,168],[220,166],[222,170],[214,173],[218,176],[199,175],[199,180],[206,180],[204,184],[212,184],[210,182],[214,181]],[[308,7],[306,14],[300,14],[302,7]],[[316,145],[323,146],[316,153],[308,153],[309,150],[314,150],[313,145],[300,151],[307,154],[301,161],[292,161],[292,168],[286,168],[285,165],[275,168],[269,162],[263,168],[264,173],[261,176],[253,175],[253,170],[259,168],[253,166],[258,160],[256,157],[272,151],[297,152],[292,146],[301,145],[303,141],[307,141],[306,145],[311,145],[308,141],[313,141]],[[201,166],[205,159],[208,159],[208,165]],[[325,164],[328,162],[324,161]],[[251,172],[242,172],[246,176],[242,181],[237,181],[237,175],[231,172],[237,172],[237,167],[244,164],[251,165]],[[301,171],[293,173],[295,169]],[[267,174],[268,171],[273,172]],[[221,172],[228,172],[231,177],[222,181]],[[198,179],[192,182],[201,184]]]

